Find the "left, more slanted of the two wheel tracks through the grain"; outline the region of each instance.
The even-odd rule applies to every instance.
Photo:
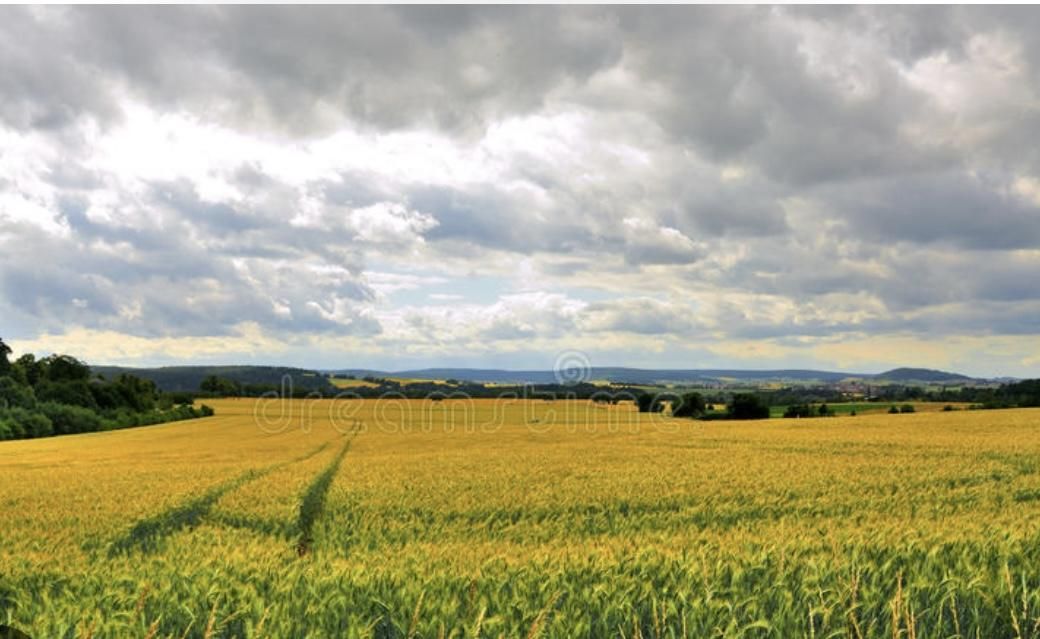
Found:
[[[349,444],[349,440],[347,440],[347,444]],[[250,468],[237,477],[217,484],[197,497],[189,499],[151,517],[140,519],[130,528],[126,535],[112,542],[109,546],[108,555],[109,557],[113,557],[133,549],[154,551],[162,538],[181,529],[198,526],[202,521],[202,518],[213,509],[216,502],[229,492],[237,490],[243,485],[270,475],[276,470],[306,461],[315,455],[319,455],[327,448],[329,448],[328,441],[300,457],[294,457],[269,466]]]

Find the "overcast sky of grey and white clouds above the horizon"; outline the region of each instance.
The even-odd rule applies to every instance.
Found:
[[[1040,9],[0,8],[0,336],[1040,374]]]

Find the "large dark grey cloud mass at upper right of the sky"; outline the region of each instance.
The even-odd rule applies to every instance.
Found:
[[[669,131],[711,157],[747,161],[795,184],[947,161],[944,150],[904,132],[927,101],[889,60],[826,59],[833,52],[808,51],[804,32],[784,14],[765,7],[627,14],[633,66],[669,90],[654,105]]]

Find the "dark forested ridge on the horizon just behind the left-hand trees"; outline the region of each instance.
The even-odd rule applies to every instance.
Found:
[[[123,373],[155,382],[162,390],[199,390],[199,384],[210,376],[234,380],[239,384],[270,384],[280,386],[288,377],[293,388],[332,390],[329,379],[320,373],[288,366],[162,366],[128,368],[124,366],[90,366],[95,373],[111,378]]]

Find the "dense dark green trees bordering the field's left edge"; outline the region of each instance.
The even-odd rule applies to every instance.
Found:
[[[185,398],[132,375],[106,380],[70,355],[41,359],[0,339],[0,440],[92,433],[209,416]],[[188,398],[188,400],[190,400]]]

